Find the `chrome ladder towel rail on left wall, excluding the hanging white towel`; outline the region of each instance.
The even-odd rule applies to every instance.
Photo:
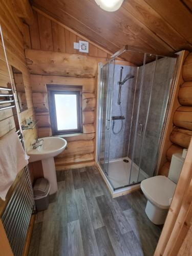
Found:
[[[8,86],[10,87],[11,84]],[[7,87],[0,87],[0,91],[0,111],[12,108],[16,133],[25,149],[14,92],[12,88]],[[33,211],[35,211],[33,189],[29,169],[26,166],[18,178],[13,194],[1,216],[14,256],[21,256],[23,254],[27,230]]]

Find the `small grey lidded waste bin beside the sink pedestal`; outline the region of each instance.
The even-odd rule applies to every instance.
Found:
[[[50,184],[45,178],[38,178],[33,186],[34,200],[37,211],[46,210],[49,206]]]

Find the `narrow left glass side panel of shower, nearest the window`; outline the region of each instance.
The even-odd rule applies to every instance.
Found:
[[[115,60],[112,60],[100,69],[99,86],[99,152],[98,160],[106,176],[109,172],[111,108],[113,98]]]

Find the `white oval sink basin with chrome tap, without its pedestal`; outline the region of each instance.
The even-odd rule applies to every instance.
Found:
[[[28,151],[29,162],[39,161],[49,157],[55,157],[60,154],[63,150],[65,150],[67,146],[67,141],[65,139],[59,137],[46,137],[40,138],[43,141],[40,141],[37,148],[33,149],[31,146]]]

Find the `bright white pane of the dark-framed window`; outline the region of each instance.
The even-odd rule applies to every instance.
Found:
[[[77,95],[55,94],[57,129],[77,129]]]

